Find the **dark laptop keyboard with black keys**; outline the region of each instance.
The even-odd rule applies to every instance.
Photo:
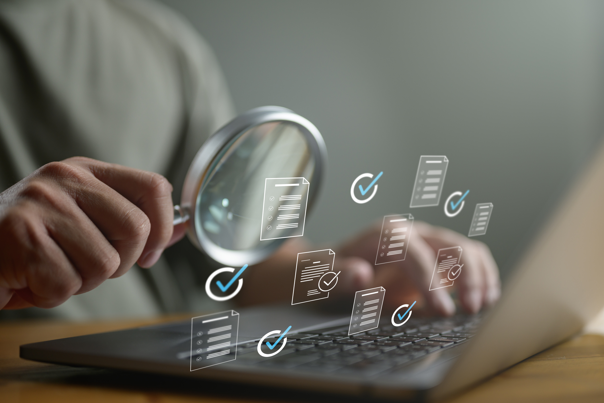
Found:
[[[318,329],[286,335],[286,346],[270,358],[257,353],[258,341],[241,344],[237,347],[237,361],[275,369],[360,371],[373,375],[459,346],[474,336],[479,323],[477,315],[457,315],[439,320],[411,318],[400,327],[387,324],[350,336],[348,326]],[[274,343],[276,340],[267,338],[265,341]]]

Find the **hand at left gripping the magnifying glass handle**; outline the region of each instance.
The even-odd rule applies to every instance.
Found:
[[[47,164],[0,193],[0,309],[52,308],[152,266],[184,235],[163,176],[89,158]]]

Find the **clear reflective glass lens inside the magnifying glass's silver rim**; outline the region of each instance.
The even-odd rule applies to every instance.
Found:
[[[196,203],[196,230],[221,248],[259,246],[266,178],[297,178],[311,183],[315,160],[300,128],[269,122],[234,138],[208,169]],[[291,233],[297,229],[292,228]]]

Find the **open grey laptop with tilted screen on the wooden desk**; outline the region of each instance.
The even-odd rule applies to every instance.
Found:
[[[349,335],[350,316],[265,306],[230,312],[238,317],[236,349],[226,362],[197,370],[194,320],[25,344],[21,358],[342,396],[440,399],[577,334],[602,309],[603,207],[600,147],[527,244],[501,300],[478,315],[411,317],[393,326],[383,312],[377,328]],[[280,352],[261,355],[268,350],[259,341],[277,343],[262,337],[285,326],[291,330]]]

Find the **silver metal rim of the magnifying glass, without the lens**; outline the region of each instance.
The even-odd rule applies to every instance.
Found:
[[[204,231],[196,231],[195,214],[196,202],[199,190],[205,182],[205,176],[210,172],[213,161],[220,151],[231,140],[247,131],[251,127],[259,124],[269,123],[271,121],[294,123],[306,137],[311,153],[315,156],[315,170],[313,172],[312,184],[309,189],[307,211],[310,211],[316,196],[321,189],[321,184],[327,167],[327,147],[321,133],[306,118],[301,117],[294,111],[281,106],[261,106],[251,109],[244,114],[231,120],[225,126],[218,129],[216,133],[210,136],[204,145],[199,149],[193,158],[184,185],[182,186],[181,204],[174,207],[174,225],[187,222],[187,236],[199,250],[207,254],[211,259],[223,265],[241,266],[244,264],[253,265],[270,256],[281,243],[287,238],[275,239],[271,241],[268,247],[255,248],[245,251],[233,251],[221,248],[212,242]],[[258,234],[260,237],[260,234]]]

